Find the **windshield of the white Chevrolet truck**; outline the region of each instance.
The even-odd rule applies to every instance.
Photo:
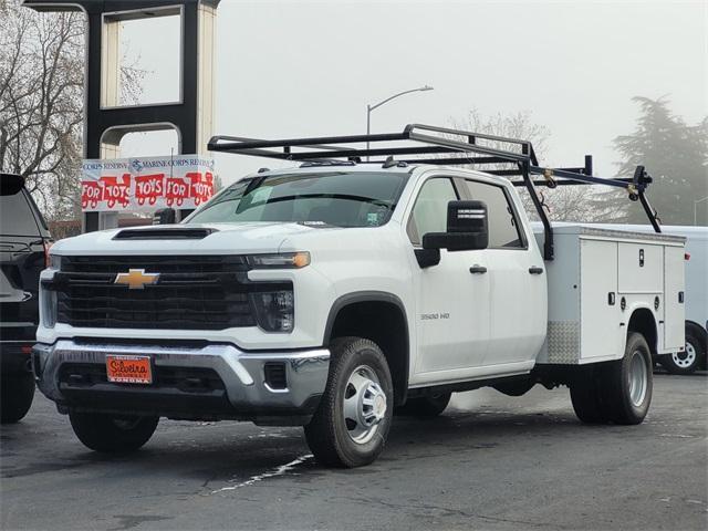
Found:
[[[228,187],[187,222],[379,227],[388,221],[407,178],[403,173],[364,171],[251,177]]]

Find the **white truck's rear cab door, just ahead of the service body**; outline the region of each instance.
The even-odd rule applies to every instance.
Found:
[[[513,190],[498,183],[465,179],[465,199],[487,205],[490,333],[483,365],[534,360],[546,329],[545,267],[535,240],[524,228]],[[517,196],[518,197],[518,196]]]

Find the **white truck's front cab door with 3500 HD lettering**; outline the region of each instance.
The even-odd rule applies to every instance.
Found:
[[[448,177],[428,178],[420,187],[407,220],[413,249],[423,236],[445,232],[449,201],[464,197]],[[487,251],[440,250],[440,262],[413,268],[416,293],[418,355],[415,373],[439,373],[433,379],[455,379],[459,369],[479,366],[489,340],[488,274],[470,272],[487,266]],[[429,377],[427,379],[430,379]]]

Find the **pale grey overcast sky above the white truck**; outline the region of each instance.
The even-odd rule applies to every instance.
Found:
[[[150,71],[146,100],[174,95],[177,31],[126,27]],[[159,45],[156,45],[159,43]],[[375,133],[449,125],[471,108],[531,111],[551,131],[549,165],[595,157],[631,133],[635,95],[666,95],[688,123],[708,114],[708,2],[242,1],[218,9],[216,134],[278,138],[364,133],[366,104],[425,84],[372,114]],[[123,156],[169,154],[171,135],[128,137]],[[218,155],[225,183],[272,162]]]

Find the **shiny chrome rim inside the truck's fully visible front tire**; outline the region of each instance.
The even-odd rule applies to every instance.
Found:
[[[378,429],[386,416],[386,394],[376,373],[368,365],[352,371],[344,388],[344,423],[351,439],[364,445]]]

